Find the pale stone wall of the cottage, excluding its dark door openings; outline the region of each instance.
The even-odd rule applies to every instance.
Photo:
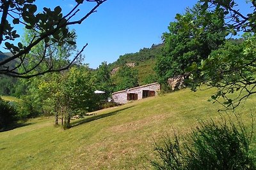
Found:
[[[123,90],[120,92],[116,92],[114,94],[112,94],[112,98],[113,101],[115,103],[120,103],[120,104],[125,104],[127,103],[127,94],[129,93],[135,93],[138,94],[138,100],[142,99],[142,95],[143,95],[143,90],[150,90],[150,91],[155,91],[156,92],[156,96],[157,96],[157,92],[160,90],[160,85],[159,83],[154,83],[152,85],[145,85],[145,86],[141,86],[141,87],[134,87],[132,89],[129,90]]]

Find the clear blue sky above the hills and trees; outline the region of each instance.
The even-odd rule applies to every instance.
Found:
[[[120,55],[138,52],[153,43],[161,43],[161,35],[168,31],[176,13],[184,13],[196,0],[108,0],[97,13],[93,13],[81,25],[71,27],[77,32],[77,48],[88,43],[84,50],[85,63],[96,68],[103,61],[114,62]],[[244,3],[245,0],[237,1]],[[38,11],[44,6],[60,5],[67,13],[76,4],[75,0],[36,0]],[[91,4],[91,5],[90,5]],[[84,3],[75,17],[86,13],[92,3]],[[244,4],[242,11],[248,9]],[[22,30],[22,29],[20,29]],[[1,48],[2,49],[2,48]]]

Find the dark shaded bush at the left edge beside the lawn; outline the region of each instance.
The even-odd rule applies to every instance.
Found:
[[[17,111],[8,102],[0,98],[0,130],[5,129],[17,120]]]

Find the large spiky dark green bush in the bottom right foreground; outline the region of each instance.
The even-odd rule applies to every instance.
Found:
[[[241,122],[238,128],[203,122],[182,141],[176,134],[174,140],[164,137],[163,145],[156,144],[159,160],[151,163],[156,169],[256,169],[251,138]]]

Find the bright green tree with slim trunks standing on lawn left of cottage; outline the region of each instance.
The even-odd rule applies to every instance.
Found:
[[[86,66],[71,67],[64,73],[56,73],[38,87],[54,108],[55,124],[58,115],[64,118],[64,126],[70,126],[72,115],[95,110],[95,86],[90,70]]]

